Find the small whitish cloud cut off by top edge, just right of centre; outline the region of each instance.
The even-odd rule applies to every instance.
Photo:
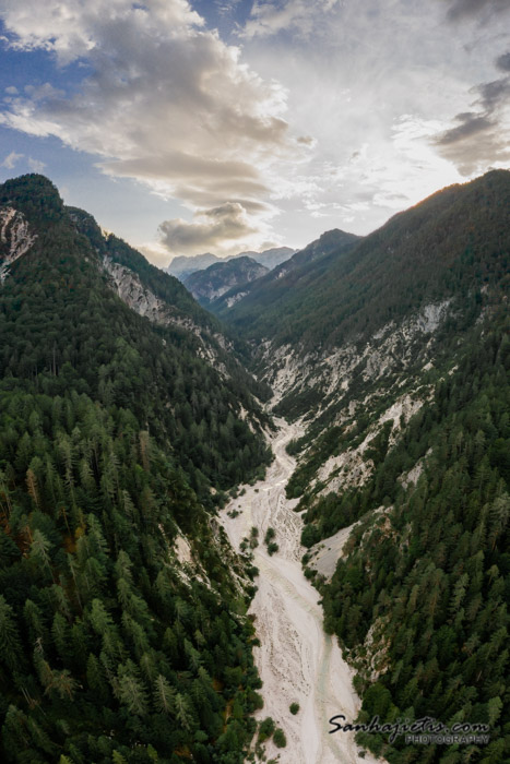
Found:
[[[286,31],[301,37],[310,37],[321,21],[339,0],[274,0],[261,2],[256,0],[251,9],[242,37],[269,37]]]

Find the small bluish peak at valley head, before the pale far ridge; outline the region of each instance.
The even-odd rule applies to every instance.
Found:
[[[195,271],[183,279],[187,289],[202,306],[207,306],[226,291],[244,287],[246,284],[269,273],[251,258],[235,258],[227,262],[214,263],[203,271]]]

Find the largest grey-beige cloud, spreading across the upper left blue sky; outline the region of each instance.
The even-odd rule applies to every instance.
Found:
[[[217,241],[221,230],[234,235],[241,216],[232,211],[222,225],[203,222],[230,202],[242,207],[245,230],[256,231],[278,163],[307,151],[289,135],[284,89],[204,29],[186,0],[4,0],[0,16],[11,47],[49,51],[62,67],[86,64],[78,93],[28,86],[0,123],[56,135],[95,154],[106,174],[179,199],[199,222],[176,220],[168,241],[192,231],[200,240],[206,228]]]

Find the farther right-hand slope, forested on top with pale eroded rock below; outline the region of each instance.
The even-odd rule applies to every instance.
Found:
[[[264,309],[260,336],[262,323],[242,319],[246,335],[258,337],[259,370],[280,394],[276,410],[310,422],[295,446],[313,441],[294,494],[313,477],[330,482],[346,466],[330,461],[319,475],[340,449],[334,428],[357,439],[348,458],[364,476],[359,449],[373,437],[370,426],[392,419],[396,430],[440,370],[453,366],[481,315],[506,297],[509,218],[509,171],[448,188],[330,255],[292,321],[283,302]],[[235,308],[230,313],[240,326]]]

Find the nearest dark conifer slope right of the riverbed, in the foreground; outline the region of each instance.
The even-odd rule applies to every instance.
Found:
[[[431,717],[489,732],[460,745],[360,733],[390,764],[510,760],[509,329],[502,308],[486,317],[396,442],[379,429],[364,455],[370,477],[349,487],[347,470],[308,513],[307,544],[363,517],[318,584],[325,628],[358,671],[360,721]]]

